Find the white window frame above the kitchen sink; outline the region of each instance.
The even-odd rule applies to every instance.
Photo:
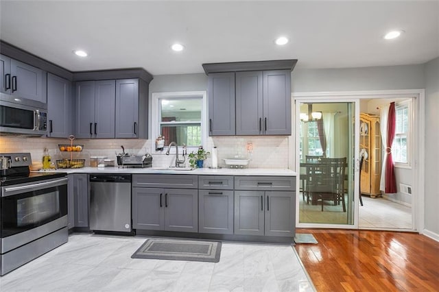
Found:
[[[177,98],[201,98],[202,108],[201,108],[201,142],[202,146],[206,147],[207,144],[207,92],[205,90],[201,91],[175,91],[175,92],[164,92],[164,93],[152,93],[152,105],[151,105],[151,153],[152,154],[163,154],[164,150],[156,150],[156,138],[161,134],[161,99],[177,99]],[[166,148],[166,147],[165,147]],[[181,153],[182,145],[178,145],[178,150]],[[187,153],[191,151],[198,150],[197,147],[187,147]],[[170,154],[175,154],[176,148],[171,147]]]

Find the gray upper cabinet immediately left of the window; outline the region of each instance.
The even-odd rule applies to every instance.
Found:
[[[147,98],[143,80],[116,80],[115,138],[147,138]]]

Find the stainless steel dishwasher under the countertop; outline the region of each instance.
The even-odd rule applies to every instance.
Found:
[[[90,229],[131,232],[131,175],[90,175]]]

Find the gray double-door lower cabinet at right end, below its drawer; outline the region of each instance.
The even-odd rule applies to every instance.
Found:
[[[294,236],[294,206],[294,192],[235,191],[235,234]]]

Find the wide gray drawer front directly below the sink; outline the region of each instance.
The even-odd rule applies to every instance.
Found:
[[[140,188],[198,188],[198,176],[185,174],[133,174],[132,186]]]

